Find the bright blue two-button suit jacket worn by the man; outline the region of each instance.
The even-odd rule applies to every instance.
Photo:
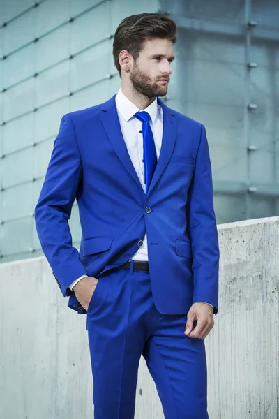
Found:
[[[194,302],[218,312],[219,247],[211,161],[203,124],[163,107],[163,138],[144,193],[121,132],[115,96],[63,115],[38,203],[36,229],[68,307],[86,313],[70,291],[136,253],[148,237],[151,288],[162,314],[187,314]],[[77,200],[79,251],[68,226]]]

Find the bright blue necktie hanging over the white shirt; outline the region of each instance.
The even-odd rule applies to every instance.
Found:
[[[135,113],[135,117],[142,121],[142,135],[144,137],[144,183],[146,195],[149,191],[153,172],[157,164],[156,148],[151,126],[149,124],[150,115],[144,110]]]

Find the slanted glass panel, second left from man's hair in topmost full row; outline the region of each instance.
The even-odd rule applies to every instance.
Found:
[[[40,39],[36,45],[36,71],[41,71],[69,55],[69,32],[67,24]]]

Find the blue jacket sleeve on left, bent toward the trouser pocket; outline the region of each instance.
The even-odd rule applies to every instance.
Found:
[[[72,245],[68,224],[82,176],[82,161],[69,114],[61,118],[59,133],[47,167],[38,203],[35,223],[43,253],[65,297],[68,285],[86,274],[79,252]],[[68,290],[67,290],[68,288]]]

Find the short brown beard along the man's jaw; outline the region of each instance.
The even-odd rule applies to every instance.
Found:
[[[156,96],[165,96],[167,94],[167,84],[160,86],[158,82],[153,80],[142,73],[137,66],[130,72],[130,82],[135,91],[147,98],[154,98]]]

